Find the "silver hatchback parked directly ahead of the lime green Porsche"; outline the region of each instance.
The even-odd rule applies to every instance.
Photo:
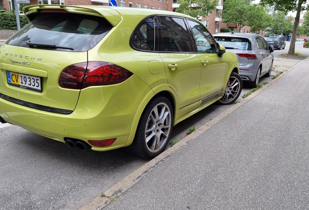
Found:
[[[226,51],[237,55],[240,77],[251,88],[256,88],[261,76],[269,77],[273,68],[274,48],[269,47],[261,35],[219,33],[214,35]]]

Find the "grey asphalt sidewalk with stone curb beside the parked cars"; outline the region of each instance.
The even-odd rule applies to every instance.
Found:
[[[309,209],[309,59],[81,210]]]

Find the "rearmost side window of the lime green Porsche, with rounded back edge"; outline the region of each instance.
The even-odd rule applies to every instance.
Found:
[[[143,20],[136,28],[131,41],[133,48],[138,50],[154,51],[155,48],[155,33],[154,21],[156,18],[147,18]],[[157,51],[157,49],[156,49]]]

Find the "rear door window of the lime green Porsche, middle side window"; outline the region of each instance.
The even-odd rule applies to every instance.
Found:
[[[160,17],[158,29],[161,34],[159,51],[194,52],[191,34],[183,18]]]

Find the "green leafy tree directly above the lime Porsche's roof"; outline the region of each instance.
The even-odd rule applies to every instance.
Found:
[[[176,12],[200,18],[212,13],[218,5],[218,0],[179,0],[177,3],[179,7]]]

